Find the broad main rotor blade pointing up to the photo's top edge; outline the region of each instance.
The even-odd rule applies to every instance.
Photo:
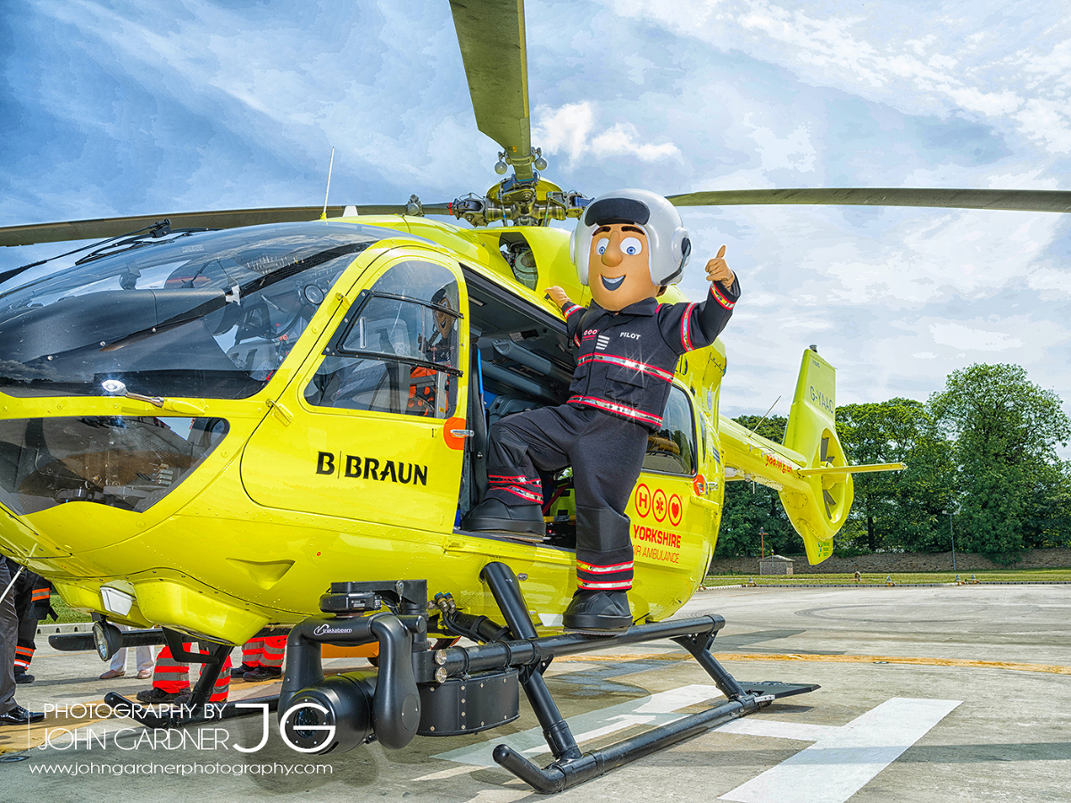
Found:
[[[450,0],[476,124],[508,156],[531,152],[524,0]],[[514,165],[517,178],[530,164]]]

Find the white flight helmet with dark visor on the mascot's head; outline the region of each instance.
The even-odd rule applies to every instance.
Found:
[[[569,255],[580,284],[588,284],[591,237],[600,226],[610,223],[635,224],[647,234],[652,283],[672,285],[680,281],[692,243],[676,207],[647,190],[618,190],[591,201],[569,238]]]

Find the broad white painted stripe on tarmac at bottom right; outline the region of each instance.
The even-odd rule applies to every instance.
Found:
[[[961,702],[894,697],[847,725],[830,729],[810,747],[721,796],[719,800],[736,803],[844,803]]]

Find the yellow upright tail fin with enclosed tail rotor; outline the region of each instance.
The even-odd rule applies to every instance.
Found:
[[[847,466],[836,436],[836,369],[818,357],[803,352],[796,395],[788,413],[785,443],[802,455],[804,469],[836,469]],[[849,472],[823,471],[803,476],[810,493],[785,487],[781,502],[793,527],[803,539],[811,563],[833,554],[833,535],[844,525],[854,498]]]

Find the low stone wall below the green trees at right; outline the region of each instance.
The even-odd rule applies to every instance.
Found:
[[[951,572],[952,552],[876,552],[856,558],[827,558],[816,566],[804,555],[791,555],[793,574],[851,574],[853,572],[890,574],[892,572]],[[985,572],[1002,569],[1062,569],[1071,566],[1071,549],[1027,549],[1017,563],[1001,566],[981,555],[955,554],[955,571]],[[710,574],[759,574],[758,556],[713,560]]]

